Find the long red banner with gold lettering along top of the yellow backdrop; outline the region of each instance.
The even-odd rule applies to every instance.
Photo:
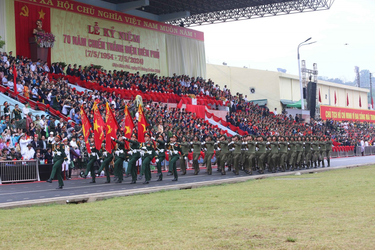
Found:
[[[119,11],[112,11],[110,9],[100,8],[98,6],[87,5],[80,2],[71,0],[59,1],[59,0],[17,0],[24,3],[33,3],[35,5],[44,6],[48,8],[59,9],[62,11],[74,12],[89,17],[101,18],[104,20],[110,20],[117,23],[127,24],[142,29],[154,30],[166,34],[175,36],[183,36],[192,38],[200,41],[204,41],[203,32],[186,29],[184,27],[174,26],[171,24],[160,23],[157,21],[148,20],[141,17],[135,17],[132,15],[124,14]],[[95,3],[95,2],[93,2]],[[111,3],[108,3],[108,7]],[[16,17],[18,17],[16,15]],[[16,18],[17,19],[17,18]]]

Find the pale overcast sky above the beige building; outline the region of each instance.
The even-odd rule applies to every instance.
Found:
[[[312,69],[317,63],[320,76],[351,81],[355,78],[354,66],[375,71],[374,13],[374,0],[336,0],[329,10],[192,29],[204,32],[209,63],[271,71],[283,68],[296,75],[297,46],[312,37],[310,41],[317,43],[300,48],[306,67]]]

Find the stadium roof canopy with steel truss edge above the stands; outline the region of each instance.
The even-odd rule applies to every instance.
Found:
[[[335,0],[77,0],[183,27],[329,9]]]

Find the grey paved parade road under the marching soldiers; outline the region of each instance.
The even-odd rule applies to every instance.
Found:
[[[327,161],[325,161],[327,164]],[[375,164],[375,155],[365,156],[365,157],[344,157],[344,158],[335,158],[331,159],[330,167],[338,166],[349,166],[355,164],[366,164],[374,163]],[[320,169],[321,167],[317,167]],[[326,167],[328,168],[328,167]],[[305,170],[305,169],[302,169]],[[293,172],[298,172],[295,170]],[[113,176],[111,176],[111,183],[105,184],[105,177],[97,177],[95,184],[90,184],[91,178],[87,179],[72,179],[64,181],[63,189],[55,189],[58,186],[57,181],[48,183],[45,181],[40,182],[28,182],[20,184],[3,184],[0,185],[0,204],[8,202],[25,202],[29,200],[40,200],[40,199],[49,199],[49,198],[58,198],[66,196],[76,196],[76,195],[97,195],[105,192],[114,192],[114,191],[131,191],[133,189],[139,188],[152,188],[152,187],[168,187],[171,185],[183,185],[183,184],[193,184],[198,182],[214,182],[218,180],[231,180],[236,178],[243,178],[244,176],[249,176],[245,172],[240,171],[239,175],[234,175],[233,172],[226,172],[226,175],[221,175],[220,172],[217,172],[216,169],[213,169],[212,175],[207,175],[205,169],[201,169],[198,175],[193,175],[193,170],[187,170],[186,175],[180,175],[181,172],[178,171],[178,181],[171,181],[173,175],[166,176],[167,172],[163,172],[163,181],[156,181],[156,173],[152,174],[152,179],[150,184],[142,184],[144,182],[144,177],[142,180],[137,180],[136,184],[130,184],[131,177],[124,178],[124,182],[121,184],[115,184]],[[287,170],[285,173],[290,172]],[[271,172],[265,171],[265,173],[271,174]],[[276,171],[275,174],[281,173],[281,171]],[[273,175],[275,175],[273,174]],[[257,171],[253,172],[252,176],[259,176]]]

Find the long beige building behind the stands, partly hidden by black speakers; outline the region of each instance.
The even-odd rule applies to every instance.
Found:
[[[243,96],[248,96],[248,100],[256,100],[260,105],[267,102],[267,106],[272,111],[274,108],[278,108],[281,111],[283,103],[291,104],[301,99],[298,75],[208,63],[206,67],[207,78],[211,78],[215,84],[219,84],[220,89],[223,89],[226,85],[231,90],[232,95],[237,92],[242,93]],[[255,93],[250,92],[251,88],[255,89]],[[319,90],[322,101],[320,104],[349,108],[368,108],[367,96],[369,89],[318,80],[317,92]],[[349,99],[348,106],[346,105],[347,94]],[[362,107],[359,107],[360,96]]]

